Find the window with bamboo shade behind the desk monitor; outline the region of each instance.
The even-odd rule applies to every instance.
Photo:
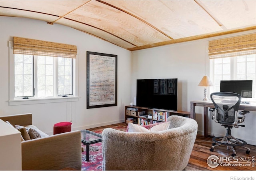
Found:
[[[256,98],[256,34],[209,42],[211,92],[220,91],[220,80],[252,80]]]

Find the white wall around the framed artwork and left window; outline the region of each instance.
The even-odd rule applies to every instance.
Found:
[[[73,28],[26,18],[0,17],[0,115],[33,114],[33,124],[47,134],[56,122],[70,121],[71,103],[9,106],[8,41],[13,36],[74,44],[77,46],[78,96],[72,102],[72,130],[81,130],[124,122],[124,106],[130,104],[131,52]],[[86,51],[118,55],[118,106],[86,109]]]

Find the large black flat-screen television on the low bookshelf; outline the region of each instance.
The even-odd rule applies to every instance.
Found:
[[[138,79],[136,106],[177,110],[178,79]]]

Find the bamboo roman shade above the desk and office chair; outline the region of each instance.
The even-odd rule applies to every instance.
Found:
[[[247,34],[209,42],[209,58],[256,54],[256,34]]]

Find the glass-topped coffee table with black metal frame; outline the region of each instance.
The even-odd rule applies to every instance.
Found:
[[[86,161],[90,161],[89,152],[90,152],[90,144],[95,144],[97,142],[101,142],[101,134],[89,131],[89,130],[81,130],[81,138],[82,143],[86,145]]]

